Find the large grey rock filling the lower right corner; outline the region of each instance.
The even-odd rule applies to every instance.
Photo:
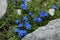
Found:
[[[60,19],[50,21],[26,35],[22,40],[60,40]]]

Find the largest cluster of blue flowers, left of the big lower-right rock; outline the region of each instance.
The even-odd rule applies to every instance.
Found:
[[[19,30],[19,28],[22,28],[23,26],[27,30],[31,30],[32,25],[29,24],[27,17],[23,17],[24,23],[21,23],[18,19],[15,21],[15,23],[18,25],[17,28],[15,28],[15,32],[18,33],[18,38],[22,38],[27,34],[26,30]]]

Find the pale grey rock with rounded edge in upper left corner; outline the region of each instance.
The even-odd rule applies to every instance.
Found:
[[[4,16],[7,9],[7,0],[0,0],[0,19]]]

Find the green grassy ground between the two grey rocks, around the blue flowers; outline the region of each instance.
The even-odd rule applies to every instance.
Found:
[[[21,0],[17,0],[16,3],[13,3],[10,0],[8,0],[8,7],[7,7],[6,14],[0,20],[0,40],[20,40],[18,39],[17,34],[14,32],[14,28],[15,26],[17,26],[15,24],[15,20],[19,19],[22,21],[22,16],[27,15],[27,13],[23,11],[21,7],[19,6],[21,3],[22,3]],[[47,6],[45,6],[44,4],[46,4]],[[38,12],[41,9],[48,12],[48,10],[51,8],[53,4],[57,5],[54,16],[49,15],[48,17],[44,18],[41,23],[35,23],[31,20],[34,16],[38,17]],[[32,29],[29,31],[27,30],[27,32],[31,33],[34,30],[36,30],[38,27],[46,25],[49,21],[56,19],[56,18],[60,18],[60,12],[58,8],[59,4],[60,4],[59,0],[57,1],[55,0],[53,2],[51,0],[46,0],[46,1],[30,0],[30,2],[28,3],[27,12],[32,11],[33,16],[32,17],[29,17],[28,15],[27,16],[29,18],[30,23],[32,24]],[[17,14],[17,11],[16,11],[17,9],[22,10],[21,15]]]

